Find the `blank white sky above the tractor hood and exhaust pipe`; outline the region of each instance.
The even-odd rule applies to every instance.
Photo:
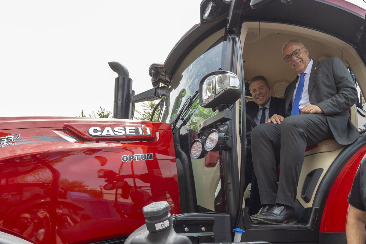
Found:
[[[108,62],[127,67],[136,94],[152,88],[149,66],[199,22],[200,3],[0,0],[0,117],[113,112]]]

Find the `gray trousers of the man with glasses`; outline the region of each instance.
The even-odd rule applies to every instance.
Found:
[[[251,132],[253,166],[261,204],[294,206],[306,146],[334,139],[326,116],[306,114],[286,117],[280,125],[259,124]],[[277,191],[275,151],[280,150]]]

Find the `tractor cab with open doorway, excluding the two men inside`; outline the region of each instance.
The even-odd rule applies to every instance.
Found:
[[[366,149],[364,19],[365,10],[346,1],[202,1],[201,22],[164,64],[149,69],[153,85],[167,87],[158,103],[159,121],[171,124],[176,142],[184,223],[198,230],[180,232],[185,225],[178,215],[173,225],[178,233],[190,236],[192,243],[219,243],[216,238],[227,233],[215,233],[215,225],[226,216],[220,228],[245,230],[242,241],[346,243],[347,196]],[[253,100],[248,84],[256,75],[268,79],[272,97],[284,98],[296,74],[283,60],[281,47],[295,39],[311,59],[339,57],[351,72],[361,92],[349,112],[360,136],[350,145],[326,140],[307,147],[295,201],[298,222],[262,224],[251,221],[245,206],[250,186],[244,189],[249,150],[244,103]],[[213,221],[214,238],[201,242],[205,232],[198,226],[204,226],[205,216],[219,217]],[[234,233],[228,236],[220,243],[230,243]]]

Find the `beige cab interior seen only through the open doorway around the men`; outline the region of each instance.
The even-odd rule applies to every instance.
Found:
[[[344,41],[325,33],[306,29],[303,27],[284,25],[279,23],[244,22],[242,25],[241,41],[243,47],[243,66],[246,80],[256,75],[265,76],[272,87],[273,97],[284,97],[284,91],[296,74],[283,60],[282,45],[288,40],[299,39],[309,50],[309,57],[314,60],[324,60],[329,57],[339,57],[349,67],[358,81],[363,93],[366,80],[366,67],[355,49]],[[247,96],[246,101],[251,97]],[[336,104],[335,104],[336,106]],[[352,123],[358,127],[356,107],[350,108]],[[364,123],[364,121],[362,121]],[[361,123],[361,121],[360,121]],[[335,140],[319,143],[306,152],[305,161],[299,178],[297,199],[303,207],[311,207],[318,185],[325,172],[336,156],[345,146]],[[322,169],[322,170],[318,170]],[[309,199],[301,196],[306,177],[318,170],[322,172]],[[309,177],[309,176],[308,176]],[[244,196],[248,196],[246,191]]]

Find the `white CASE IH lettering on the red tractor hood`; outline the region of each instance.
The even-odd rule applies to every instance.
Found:
[[[141,127],[90,127],[88,134],[91,136],[151,136],[151,128],[141,125]]]

